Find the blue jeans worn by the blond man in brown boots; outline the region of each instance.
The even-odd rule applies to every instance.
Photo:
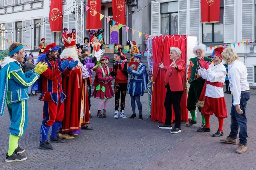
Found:
[[[229,137],[236,139],[238,134],[238,128],[240,128],[239,132],[239,143],[246,145],[247,144],[247,119],[246,119],[246,105],[247,101],[251,98],[251,92],[241,92],[240,99],[240,108],[243,113],[240,115],[236,111],[236,106],[233,105],[233,96],[232,96],[232,107],[231,107],[231,124],[230,129],[231,132]]]

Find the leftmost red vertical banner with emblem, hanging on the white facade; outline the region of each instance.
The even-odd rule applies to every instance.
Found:
[[[51,1],[49,12],[49,22],[52,32],[61,32],[62,30],[62,0]]]

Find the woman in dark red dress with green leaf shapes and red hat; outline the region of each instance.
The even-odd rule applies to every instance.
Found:
[[[109,57],[104,56],[100,59],[100,66],[96,69],[96,76],[94,79],[93,87],[93,97],[96,99],[101,99],[98,106],[98,118],[106,117],[106,108],[108,107],[108,99],[114,97],[114,92],[112,90],[112,80],[111,67],[108,67]],[[103,113],[101,114],[101,108],[104,104]]]

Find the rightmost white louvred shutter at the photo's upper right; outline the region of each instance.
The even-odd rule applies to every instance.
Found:
[[[253,0],[242,0],[242,40],[253,39]]]

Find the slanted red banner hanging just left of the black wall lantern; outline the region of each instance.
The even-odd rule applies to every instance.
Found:
[[[126,25],[125,0],[112,0],[113,20]]]

